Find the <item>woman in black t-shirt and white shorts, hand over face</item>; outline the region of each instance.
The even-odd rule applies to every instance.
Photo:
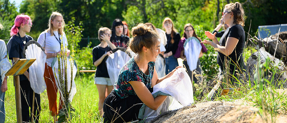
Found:
[[[97,67],[95,75],[95,84],[99,93],[99,115],[102,117],[103,104],[108,95],[113,90],[112,82],[108,76],[108,70],[106,66],[106,58],[112,53],[111,50],[116,49],[116,46],[110,42],[111,30],[109,28],[103,27],[98,31],[98,39],[100,44],[93,48],[93,63]],[[106,94],[107,92],[107,94]]]

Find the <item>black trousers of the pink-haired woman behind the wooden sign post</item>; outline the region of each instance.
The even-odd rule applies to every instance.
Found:
[[[31,88],[30,82],[28,80],[20,81],[20,93],[21,93],[22,121],[32,122],[32,116],[33,116],[35,123],[38,123],[41,111],[40,94],[35,93],[34,114],[32,115],[33,89]]]

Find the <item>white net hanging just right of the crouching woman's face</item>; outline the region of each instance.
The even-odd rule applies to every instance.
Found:
[[[154,67],[156,68],[156,72],[158,74],[158,78],[165,76],[165,63],[164,58],[158,55]]]

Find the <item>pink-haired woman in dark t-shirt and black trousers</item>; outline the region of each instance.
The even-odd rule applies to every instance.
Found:
[[[26,33],[30,32],[32,27],[31,18],[28,15],[18,15],[15,18],[14,25],[11,28],[10,35],[12,36],[7,43],[7,50],[9,59],[14,64],[18,59],[23,59],[24,45],[33,40],[33,38]],[[34,113],[30,114],[32,110],[33,102],[33,90],[30,86],[29,70],[25,71],[24,74],[19,75],[20,87],[21,87],[21,108],[22,108],[22,121],[23,122],[39,122],[39,115],[41,111],[40,107],[40,94],[35,93],[34,99]],[[31,121],[32,116],[34,121]],[[36,116],[36,118],[35,118]]]

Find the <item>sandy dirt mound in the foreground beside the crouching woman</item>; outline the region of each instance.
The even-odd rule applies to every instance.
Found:
[[[235,100],[233,102],[208,101],[186,106],[178,110],[164,112],[151,122],[264,122],[261,116],[257,113],[258,109],[246,104],[247,103],[243,103],[242,100]],[[278,116],[276,119],[277,122],[283,122],[286,117]]]

